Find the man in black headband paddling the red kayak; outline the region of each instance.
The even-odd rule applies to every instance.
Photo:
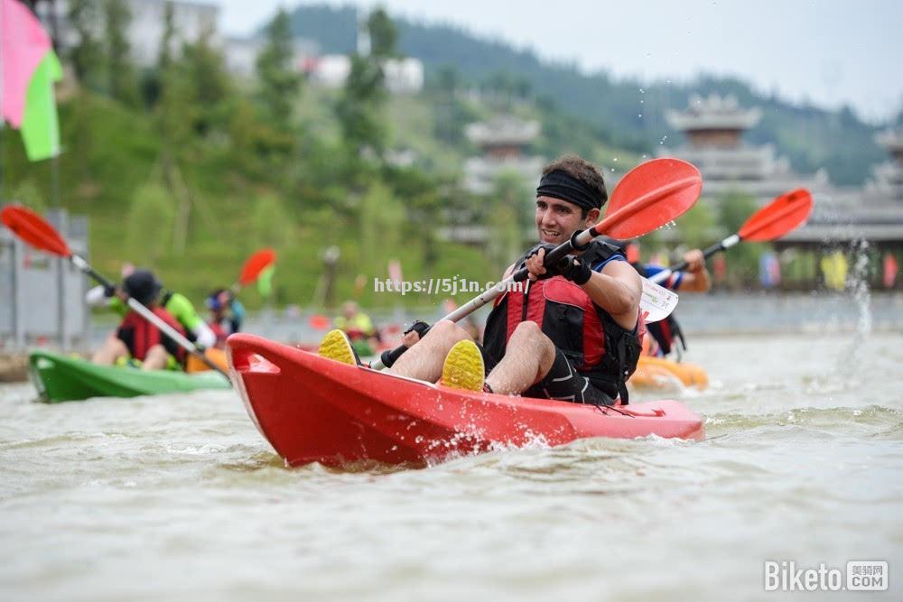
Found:
[[[536,189],[540,245],[506,273],[526,266],[529,282],[498,298],[479,348],[451,321],[440,321],[389,372],[497,394],[524,394],[575,403],[627,403],[625,381],[639,357],[639,274],[617,247],[592,242],[561,263],[545,254],[595,225],[608,200],[600,171],[577,155],[548,164]],[[321,355],[342,357],[338,338],[324,339]],[[415,344],[414,344],[415,343]],[[412,346],[413,345],[413,346]],[[484,371],[489,374],[485,377]]]

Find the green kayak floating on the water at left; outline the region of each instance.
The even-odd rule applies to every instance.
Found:
[[[135,397],[231,387],[228,380],[216,372],[189,375],[169,370],[98,366],[83,359],[58,356],[47,351],[31,352],[28,362],[29,375],[42,401],[50,403],[88,397]]]

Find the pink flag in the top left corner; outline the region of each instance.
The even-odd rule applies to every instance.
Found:
[[[50,50],[50,36],[32,12],[17,0],[0,0],[0,117],[15,128],[22,127],[34,69]]]

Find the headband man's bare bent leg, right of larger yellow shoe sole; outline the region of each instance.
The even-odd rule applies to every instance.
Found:
[[[549,373],[555,361],[552,339],[535,322],[521,322],[508,339],[505,357],[486,377],[493,393],[521,394]]]

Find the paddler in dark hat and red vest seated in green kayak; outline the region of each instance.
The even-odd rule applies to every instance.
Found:
[[[126,294],[146,306],[154,314],[184,334],[182,326],[164,310],[160,304],[163,286],[147,270],[135,270],[123,282]],[[144,370],[178,369],[182,365],[185,351],[167,337],[154,324],[145,320],[135,311],[128,310],[116,333],[92,357],[95,364],[112,366],[117,363],[137,360]]]

